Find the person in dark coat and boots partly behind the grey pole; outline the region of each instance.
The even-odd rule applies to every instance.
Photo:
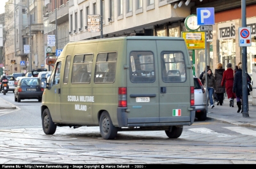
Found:
[[[238,65],[238,69],[236,70],[236,73],[234,75],[234,84],[232,91],[236,93],[236,104],[238,107],[237,113],[242,110],[242,96],[243,96],[243,73],[242,73],[242,64]],[[252,78],[247,73],[247,81],[250,82]],[[250,92],[248,91],[247,95],[250,95]],[[242,112],[243,113],[243,110]]]

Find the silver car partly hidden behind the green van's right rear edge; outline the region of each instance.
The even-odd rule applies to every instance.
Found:
[[[207,99],[205,89],[199,78],[194,77],[195,110],[198,121],[207,119]]]

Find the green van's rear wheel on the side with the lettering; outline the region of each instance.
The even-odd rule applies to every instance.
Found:
[[[105,140],[113,140],[117,135],[118,128],[113,126],[108,112],[104,111],[100,115],[100,135]]]

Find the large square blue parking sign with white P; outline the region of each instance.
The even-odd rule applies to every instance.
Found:
[[[196,8],[198,26],[214,25],[214,8]]]

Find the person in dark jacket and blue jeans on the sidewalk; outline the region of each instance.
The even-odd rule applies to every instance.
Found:
[[[212,95],[213,95],[216,85],[215,85],[215,78],[214,78],[214,75],[213,75],[211,69],[208,69],[207,73],[204,73],[202,80],[205,81],[205,78],[207,78],[207,91],[208,91],[208,97],[210,100],[211,108],[214,108]]]

